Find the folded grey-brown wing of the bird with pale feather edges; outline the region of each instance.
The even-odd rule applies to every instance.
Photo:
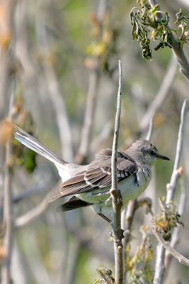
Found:
[[[63,182],[59,194],[52,197],[50,201],[59,197],[92,192],[110,186],[112,182],[111,155],[112,151],[110,149],[104,149],[98,153],[95,160],[87,166],[85,171]],[[136,173],[137,164],[125,152],[118,151],[117,168],[118,182],[120,182]],[[107,191],[104,193],[107,193]]]

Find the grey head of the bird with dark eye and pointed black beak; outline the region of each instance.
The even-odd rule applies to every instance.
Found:
[[[135,157],[132,158],[136,158],[136,160],[139,160],[139,163],[146,163],[150,167],[156,162],[157,159],[170,160],[165,155],[160,155],[156,146],[144,139],[139,139],[133,143],[130,147],[130,150],[130,153],[134,153],[135,155]]]

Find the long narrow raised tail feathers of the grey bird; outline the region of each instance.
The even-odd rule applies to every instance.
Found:
[[[67,161],[63,160],[62,158],[59,158],[58,155],[50,151],[49,148],[45,147],[37,139],[20,129],[18,126],[14,126],[13,133],[15,138],[23,145],[50,160],[56,165],[57,168],[62,168],[62,165],[67,164]]]

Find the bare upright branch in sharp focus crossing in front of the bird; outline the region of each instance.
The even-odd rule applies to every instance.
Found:
[[[122,65],[119,60],[119,88],[117,111],[115,115],[115,131],[113,136],[113,153],[112,153],[112,188],[110,190],[113,199],[113,236],[115,252],[115,283],[123,283],[123,250],[122,250],[122,229],[121,229],[121,207],[120,194],[118,191],[117,180],[117,154],[118,154],[118,136],[120,129],[121,113],[121,94],[122,94]]]

